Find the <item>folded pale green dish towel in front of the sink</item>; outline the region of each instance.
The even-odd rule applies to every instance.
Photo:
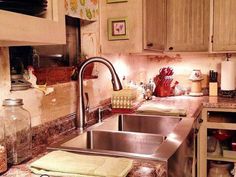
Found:
[[[53,151],[30,164],[35,174],[66,177],[125,177],[133,161],[126,158]]]

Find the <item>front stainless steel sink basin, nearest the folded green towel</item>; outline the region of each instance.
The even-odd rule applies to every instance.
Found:
[[[132,154],[154,154],[164,136],[117,131],[91,130],[61,145],[63,148],[73,148],[77,152],[96,152],[109,155]]]

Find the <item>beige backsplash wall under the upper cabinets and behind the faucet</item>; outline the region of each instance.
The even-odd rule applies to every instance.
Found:
[[[191,82],[188,77],[193,69],[201,69],[204,74],[202,87],[208,87],[209,70],[214,69],[220,73],[220,63],[225,59],[224,54],[104,55],[103,57],[113,63],[120,79],[125,76],[127,81],[133,80],[136,83],[147,82],[159,73],[161,67],[171,66],[174,69],[174,79],[187,89],[190,88]],[[233,55],[232,60],[236,62],[236,55]],[[85,85],[90,97],[90,107],[96,108],[111,96],[112,85],[106,67],[96,64],[93,72],[98,75],[98,79],[85,81]],[[220,77],[218,80],[220,81]]]

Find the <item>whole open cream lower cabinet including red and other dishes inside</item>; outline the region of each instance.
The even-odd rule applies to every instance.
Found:
[[[236,109],[204,108],[198,136],[198,177],[207,177],[212,164],[236,163]],[[232,155],[229,155],[232,154]]]

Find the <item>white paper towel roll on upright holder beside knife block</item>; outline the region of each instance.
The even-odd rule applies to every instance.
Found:
[[[226,54],[226,60],[221,62],[221,90],[220,96],[234,97],[235,95],[235,62],[230,60],[231,54]]]

